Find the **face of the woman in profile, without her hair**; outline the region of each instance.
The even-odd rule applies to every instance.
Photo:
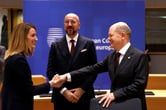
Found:
[[[31,28],[27,34],[27,45],[30,50],[35,49],[37,40],[36,30]]]

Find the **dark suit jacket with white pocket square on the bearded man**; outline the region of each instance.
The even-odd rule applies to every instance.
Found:
[[[54,42],[51,45],[47,66],[47,76],[51,79],[55,74],[64,74],[84,66],[95,64],[96,62],[96,50],[92,40],[79,35],[74,56],[71,57],[66,37],[64,36],[60,41]],[[63,85],[63,87],[67,87],[67,89],[82,88],[85,91],[85,94],[78,102],[78,104],[80,104],[79,110],[84,109],[84,107],[89,108],[90,99],[94,97],[93,82],[95,79],[96,76],[91,76],[74,82],[66,82]],[[69,106],[73,106],[75,108],[74,105],[77,104],[68,102],[64,96],[60,94],[61,89],[62,88],[53,88],[52,101],[56,104],[56,110],[58,109],[57,106],[61,106],[60,110],[63,110],[62,108],[70,110]]]

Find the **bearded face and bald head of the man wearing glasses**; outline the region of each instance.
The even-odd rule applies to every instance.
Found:
[[[64,29],[69,37],[73,38],[80,29],[79,17],[74,13],[69,13],[64,18]]]

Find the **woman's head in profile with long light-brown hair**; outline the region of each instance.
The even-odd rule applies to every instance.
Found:
[[[9,37],[5,59],[20,53],[25,56],[32,56],[37,40],[36,27],[33,24],[17,24],[13,29],[12,35]]]

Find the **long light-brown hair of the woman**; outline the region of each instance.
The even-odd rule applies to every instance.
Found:
[[[27,35],[29,30],[36,27],[29,23],[20,23],[15,26],[12,35],[9,37],[8,50],[5,53],[5,59],[9,56],[22,53],[25,56],[31,56],[34,49],[27,45]]]

